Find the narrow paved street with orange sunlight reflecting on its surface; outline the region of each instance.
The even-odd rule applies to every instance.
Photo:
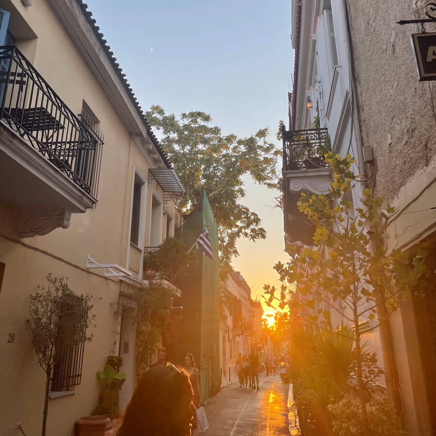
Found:
[[[259,391],[227,385],[205,406],[210,428],[205,436],[289,435],[289,384],[279,376],[259,376]],[[283,415],[280,415],[283,414]],[[195,433],[195,435],[202,435]]]

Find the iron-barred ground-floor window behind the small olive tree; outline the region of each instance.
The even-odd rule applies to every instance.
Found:
[[[80,384],[82,377],[83,349],[85,343],[86,317],[83,300],[79,296],[65,296],[60,312],[67,314],[59,319],[55,343],[55,359],[51,390],[68,390]]]

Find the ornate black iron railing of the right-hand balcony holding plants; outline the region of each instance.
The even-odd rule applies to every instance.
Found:
[[[283,171],[312,170],[327,166],[324,155],[331,151],[326,128],[282,130]]]

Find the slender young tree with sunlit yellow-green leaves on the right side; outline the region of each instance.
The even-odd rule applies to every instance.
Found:
[[[287,265],[275,265],[280,298],[269,285],[265,293],[269,304],[278,299],[282,307],[308,322],[331,328],[330,314],[337,312],[353,326],[359,404],[365,434],[370,434],[366,403],[378,371],[371,364],[374,356],[362,360],[367,352],[362,348],[360,323],[376,316],[373,328],[385,322],[401,299],[425,279],[426,250],[420,245],[407,252],[389,252],[386,231],[395,209],[368,188],[361,207],[354,209],[347,200],[358,179],[350,170],[354,160],[328,153],[326,162],[334,172],[329,193],[303,193],[298,202],[300,212],[315,225],[313,246],[295,254]],[[291,283],[297,284],[297,292],[289,292]]]

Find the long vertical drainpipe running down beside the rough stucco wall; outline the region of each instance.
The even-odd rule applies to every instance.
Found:
[[[347,28],[347,37],[348,37],[348,49],[350,52],[350,66],[351,66],[351,81],[353,89],[350,90],[352,93],[352,96],[354,95],[354,98],[352,99],[352,111],[356,109],[356,116],[359,126],[359,133],[360,133],[360,142],[363,145],[363,138],[361,133],[361,122],[360,122],[360,116],[358,112],[358,104],[356,103],[357,100],[357,93],[356,93],[356,66],[354,63],[354,50],[353,50],[353,43],[352,43],[352,37],[351,37],[351,24],[350,24],[350,14],[349,14],[349,0],[343,0],[343,8],[345,13],[345,24]],[[353,127],[353,126],[352,126]],[[374,177],[375,177],[375,170],[374,170]],[[374,188],[374,187],[373,187]],[[370,247],[370,250],[374,252],[374,247]],[[383,300],[384,295],[379,296],[380,301]],[[377,316],[379,319],[386,319],[387,318],[387,311],[384,305],[377,306]],[[383,354],[383,361],[385,363],[384,370],[385,370],[385,379],[386,379],[386,387],[388,389],[389,396],[391,400],[393,401],[395,408],[400,416],[401,425],[404,428],[404,403],[402,399],[401,389],[400,389],[400,381],[398,376],[398,368],[397,363],[395,360],[395,354],[394,354],[394,347],[393,347],[393,340],[392,340],[392,331],[390,328],[389,319],[386,319],[385,322],[382,322],[379,326],[380,331],[380,339],[382,343],[382,354]]]

